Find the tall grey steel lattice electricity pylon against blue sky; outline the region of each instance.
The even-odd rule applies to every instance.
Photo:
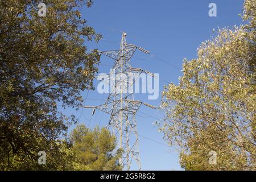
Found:
[[[108,129],[112,129],[112,134],[118,139],[118,148],[122,148],[124,151],[122,157],[119,159],[119,164],[121,164],[124,169],[129,170],[131,164],[135,162],[140,170],[141,160],[139,156],[139,138],[135,114],[142,104],[153,109],[155,109],[155,107],[134,100],[134,94],[131,90],[133,90],[135,80],[142,72],[150,76],[154,75],[141,68],[131,67],[130,59],[137,49],[147,54],[150,52],[134,44],[127,44],[126,35],[127,34],[123,32],[120,49],[114,51],[100,51],[101,54],[115,60],[113,69],[109,74],[110,93],[105,104],[84,107],[93,108],[92,115],[96,109],[110,115]],[[112,75],[115,75],[115,77],[113,78]],[[129,79],[131,76],[133,76],[133,79]]]

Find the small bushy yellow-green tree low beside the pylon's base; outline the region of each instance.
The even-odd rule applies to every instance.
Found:
[[[71,141],[77,156],[76,170],[122,169],[118,163],[122,152],[114,152],[116,139],[105,128],[90,130],[85,125],[77,125],[71,133]]]

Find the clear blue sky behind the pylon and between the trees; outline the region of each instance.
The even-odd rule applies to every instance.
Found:
[[[216,3],[217,17],[208,15],[209,3]],[[98,44],[86,43],[89,49],[102,51],[119,48],[122,31],[127,33],[127,43],[136,44],[151,52],[146,55],[135,52],[131,59],[133,67],[159,73],[159,98],[148,100],[147,94],[136,94],[135,100],[159,106],[163,85],[167,82],[177,84],[182,75],[183,58],[191,60],[197,56],[197,47],[201,42],[210,39],[220,27],[232,27],[241,24],[238,16],[242,12],[242,0],[94,0],[90,9],[82,8],[82,17],[88,20],[104,39]],[[167,63],[166,63],[167,62]],[[99,73],[109,73],[113,60],[101,56]],[[98,81],[94,81],[97,88]],[[82,92],[84,105],[100,105],[108,94],[94,91]],[[66,109],[67,114],[75,114],[80,123],[93,128],[96,125],[108,125],[109,115],[96,110],[91,117],[92,109]],[[163,113],[146,106],[141,106],[137,115],[139,150],[143,170],[180,170],[179,156],[174,148],[166,146],[163,134],[152,125],[152,122],[163,118]],[[73,128],[73,127],[72,127]],[[72,129],[71,128],[71,129]],[[137,169],[132,166],[131,169]]]

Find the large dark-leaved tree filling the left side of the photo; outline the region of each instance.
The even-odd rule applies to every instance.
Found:
[[[85,39],[96,40],[81,7],[91,0],[0,2],[0,169],[42,169],[38,152],[61,156],[59,143],[73,115],[57,109],[81,106],[80,92],[93,89],[100,56]],[[56,169],[59,165],[44,167]]]

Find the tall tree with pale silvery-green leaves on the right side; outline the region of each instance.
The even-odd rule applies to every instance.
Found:
[[[245,1],[249,23],[218,30],[197,59],[184,60],[179,84],[164,89],[159,128],[186,170],[256,169],[255,13],[255,1]]]

